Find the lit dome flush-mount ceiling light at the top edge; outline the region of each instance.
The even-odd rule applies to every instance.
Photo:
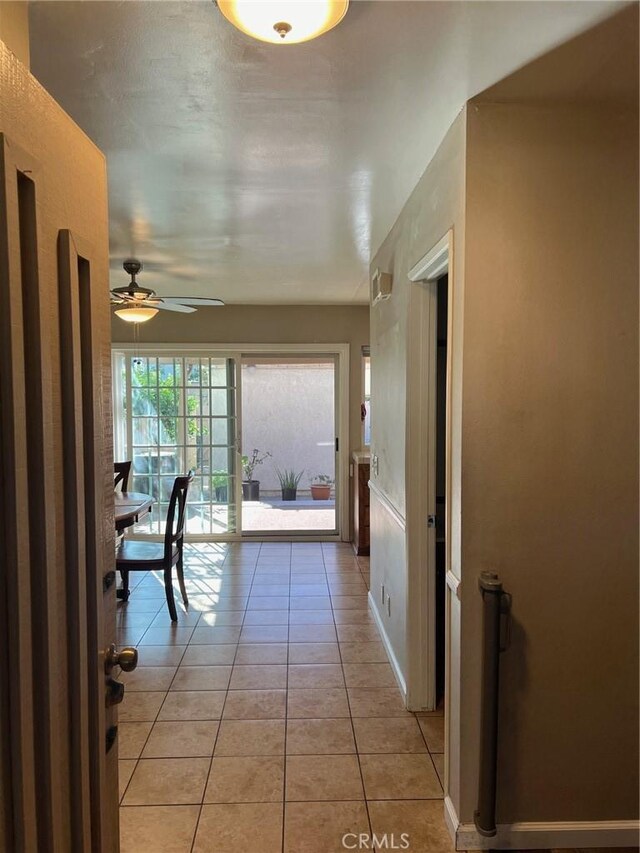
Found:
[[[252,38],[299,44],[339,24],[349,0],[217,0],[217,5],[234,27]]]

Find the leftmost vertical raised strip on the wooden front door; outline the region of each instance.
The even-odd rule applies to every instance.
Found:
[[[31,577],[10,571],[30,565],[28,536],[17,536],[18,519],[28,515],[27,416],[22,335],[18,199],[15,163],[7,139],[0,134],[0,431],[2,434],[2,606],[4,640],[12,665],[3,667],[2,712],[3,754],[10,756],[10,776],[3,781],[10,807],[5,813],[7,838],[15,849],[36,850],[37,833],[31,819],[35,814],[36,764],[31,696]],[[4,748],[6,747],[6,752]],[[3,780],[7,768],[3,766]]]

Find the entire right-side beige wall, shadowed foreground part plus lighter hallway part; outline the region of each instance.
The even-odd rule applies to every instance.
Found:
[[[449,793],[467,825],[483,569],[514,601],[498,821],[637,817],[636,16],[492,91],[509,103],[471,102],[372,263],[394,274],[371,316],[375,482],[406,519],[420,287],[407,272],[453,228]],[[372,495],[371,533],[374,606],[385,582],[400,613],[379,615],[406,676],[416,532]]]

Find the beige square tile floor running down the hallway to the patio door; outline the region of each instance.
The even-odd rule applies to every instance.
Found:
[[[152,574],[118,609],[118,643],[140,652],[120,674],[122,853],[341,853],[345,833],[374,832],[449,853],[443,717],[403,708],[368,560],[201,544],[185,574],[177,626]]]

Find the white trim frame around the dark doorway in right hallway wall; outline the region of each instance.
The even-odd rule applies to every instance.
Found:
[[[451,353],[453,316],[453,231],[450,230],[408,273],[411,285],[407,360],[407,704],[411,710],[436,706],[436,567],[435,528],[427,518],[435,514],[437,342],[436,282],[449,276],[447,345],[447,411],[445,437],[445,559],[447,579],[451,566]],[[445,661],[449,628],[445,629]],[[448,672],[448,667],[446,667]],[[445,673],[445,707],[448,682]]]

